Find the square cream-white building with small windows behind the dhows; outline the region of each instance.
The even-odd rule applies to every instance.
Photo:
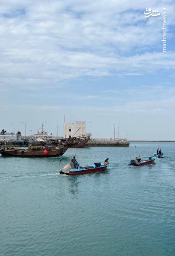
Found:
[[[86,121],[74,121],[74,123],[64,123],[64,138],[83,136],[87,136]]]

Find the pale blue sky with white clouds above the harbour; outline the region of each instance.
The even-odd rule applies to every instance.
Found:
[[[1,130],[61,136],[65,115],[94,138],[175,139],[174,110],[173,0],[0,0]]]

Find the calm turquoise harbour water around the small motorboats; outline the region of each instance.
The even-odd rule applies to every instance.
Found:
[[[162,143],[165,159],[130,167],[130,148],[76,149],[81,165],[103,162],[102,173],[69,176],[60,158],[0,157],[0,256],[175,255],[175,143]]]

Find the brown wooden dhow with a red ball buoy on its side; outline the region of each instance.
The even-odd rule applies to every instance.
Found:
[[[67,139],[64,143],[55,142],[53,140],[41,143],[40,146],[33,146],[32,143],[29,143],[28,149],[17,149],[4,147],[0,149],[0,154],[2,156],[19,156],[19,157],[53,157],[53,156],[63,156],[63,154],[70,147],[73,142],[73,138]],[[37,143],[38,145],[38,143]]]

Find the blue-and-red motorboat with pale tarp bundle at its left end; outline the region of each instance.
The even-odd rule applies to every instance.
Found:
[[[72,168],[72,166],[69,164],[69,165],[65,165],[63,169],[60,169],[60,173],[67,174],[67,175],[77,175],[77,174],[85,174],[90,172],[102,172],[108,166],[109,164],[101,165],[101,163],[94,163],[94,165],[79,166],[76,169],[76,168]]]

